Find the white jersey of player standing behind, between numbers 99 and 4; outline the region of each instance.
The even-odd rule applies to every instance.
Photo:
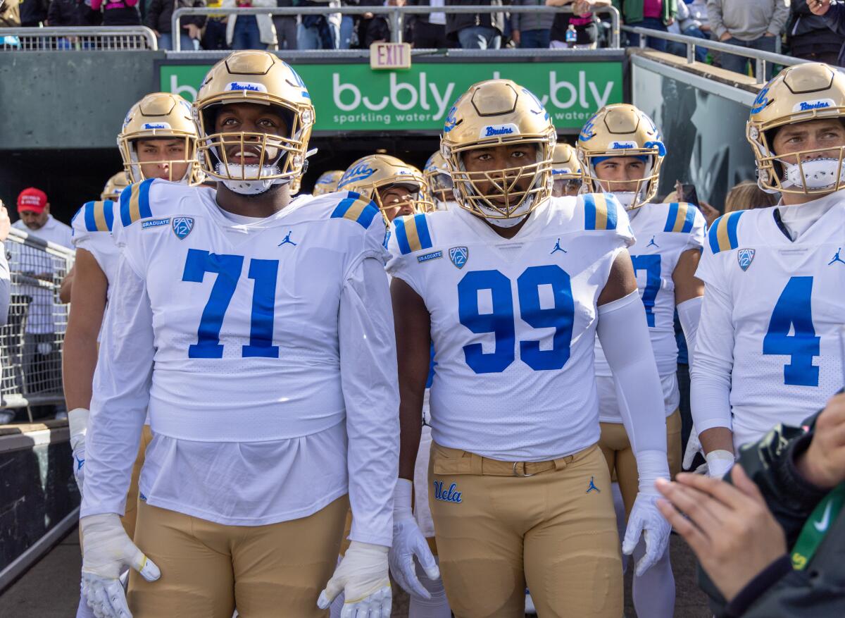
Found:
[[[679,404],[677,382],[670,379],[678,371],[678,343],[674,328],[675,284],[672,276],[684,251],[704,246],[706,221],[701,211],[684,202],[645,205],[634,211],[630,221],[636,236],[636,243],[630,248],[631,261],[640,298],[646,308],[648,334],[657,361],[657,372],[661,376],[668,415]],[[600,377],[600,383],[605,381],[602,378],[610,379],[612,375],[598,340],[596,375]],[[603,391],[606,391],[606,397],[600,397],[602,422],[621,423],[615,388],[610,384]]]

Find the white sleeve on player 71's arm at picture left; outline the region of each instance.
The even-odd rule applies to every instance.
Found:
[[[153,346],[146,284],[121,256],[94,373],[80,517],[123,515],[150,402]]]

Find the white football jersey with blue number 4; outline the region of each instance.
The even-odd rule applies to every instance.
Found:
[[[845,203],[828,199],[839,201],[794,242],[777,208],[728,213],[707,234],[695,276],[727,296],[733,333],[700,328],[696,353],[733,337],[735,444],[800,424],[842,388]]]

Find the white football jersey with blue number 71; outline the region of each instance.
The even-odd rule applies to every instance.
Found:
[[[341,287],[361,260],[386,257],[379,210],[345,195],[297,199],[239,240],[213,189],[124,190],[115,235],[150,297],[155,434],[282,440],[343,420]]]

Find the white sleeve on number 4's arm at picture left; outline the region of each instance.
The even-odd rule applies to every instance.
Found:
[[[699,435],[714,427],[731,429],[733,317],[728,295],[706,284],[690,364],[690,407]]]

